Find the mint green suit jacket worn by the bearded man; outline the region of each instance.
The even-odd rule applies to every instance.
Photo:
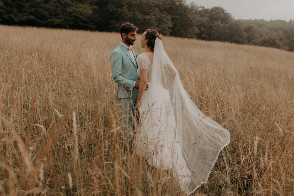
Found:
[[[117,83],[117,98],[138,97],[138,89],[134,88],[135,82],[140,81],[137,73],[138,62],[135,52],[131,51],[134,60],[120,43],[110,55],[112,77]]]

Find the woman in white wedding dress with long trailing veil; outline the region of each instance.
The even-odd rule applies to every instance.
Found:
[[[205,116],[186,93],[166,54],[161,34],[147,29],[138,55],[140,86],[135,108],[141,126],[136,153],[149,165],[172,170],[181,189],[191,194],[206,183],[230,132]],[[149,90],[145,91],[146,85]]]

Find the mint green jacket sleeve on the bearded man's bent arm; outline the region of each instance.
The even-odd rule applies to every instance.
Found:
[[[110,55],[110,61],[111,61],[111,72],[112,72],[113,80],[123,87],[128,87],[130,89],[133,89],[135,87],[136,81],[126,79],[121,74],[121,68],[122,68],[121,54],[116,51],[113,51]]]

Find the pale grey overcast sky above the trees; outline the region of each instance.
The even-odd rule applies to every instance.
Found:
[[[221,6],[235,19],[294,19],[294,0],[186,0],[206,8]]]

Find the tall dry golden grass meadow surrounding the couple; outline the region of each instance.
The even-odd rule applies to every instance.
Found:
[[[0,26],[1,195],[183,195],[171,173],[123,145],[110,64],[119,42],[119,33]],[[294,53],[163,44],[194,103],[231,133],[193,195],[293,195]]]

